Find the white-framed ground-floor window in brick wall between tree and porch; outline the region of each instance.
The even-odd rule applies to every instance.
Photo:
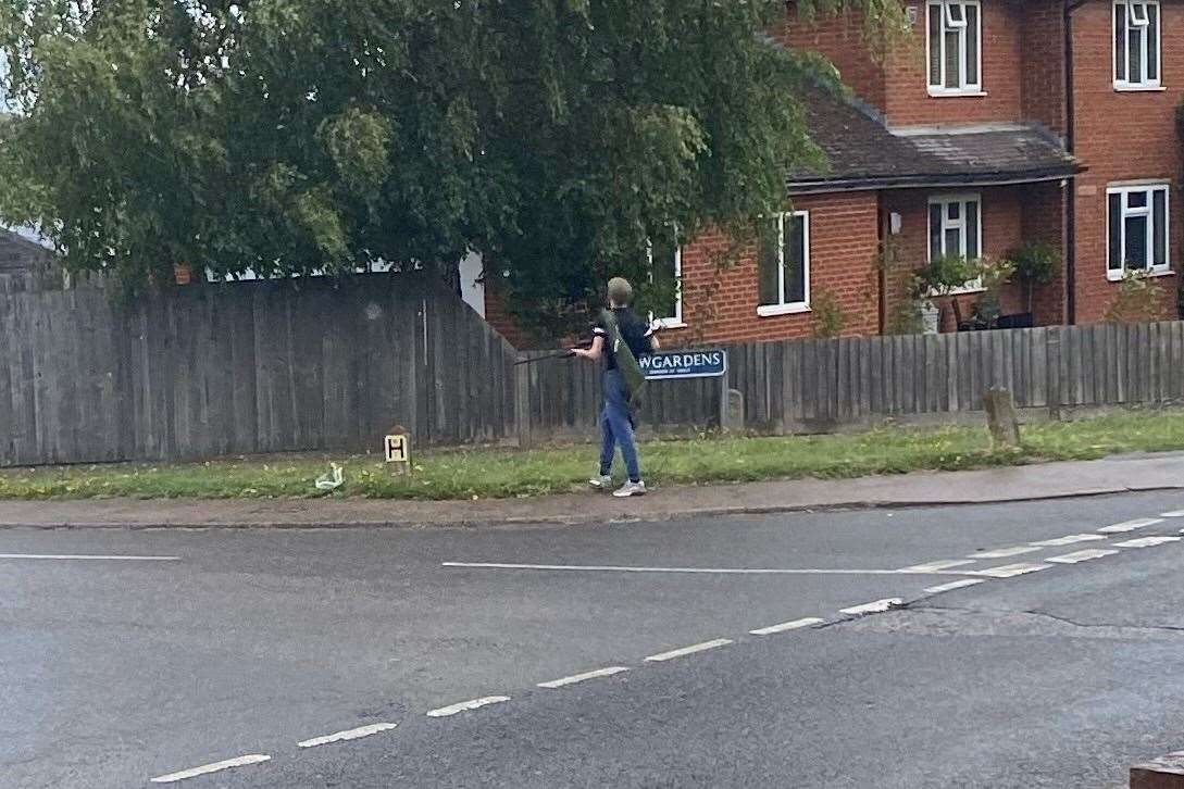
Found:
[[[760,305],[757,315],[810,309],[810,214],[805,211],[761,220],[757,239]]]

